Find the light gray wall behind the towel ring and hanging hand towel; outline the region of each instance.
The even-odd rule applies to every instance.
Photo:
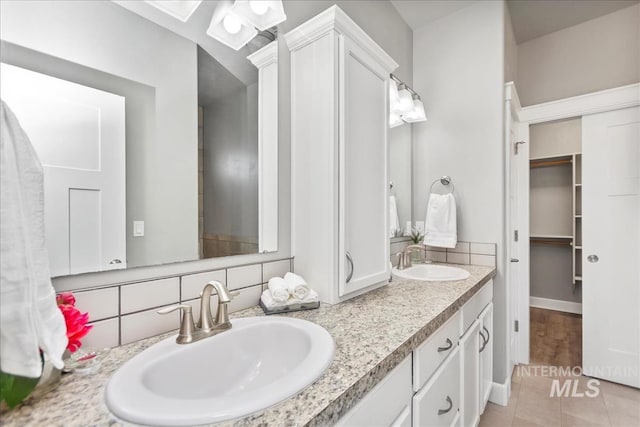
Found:
[[[503,2],[476,2],[416,30],[414,67],[429,108],[429,120],[413,125],[414,217],[425,217],[431,182],[450,175],[458,240],[497,243],[494,379],[504,382]]]

